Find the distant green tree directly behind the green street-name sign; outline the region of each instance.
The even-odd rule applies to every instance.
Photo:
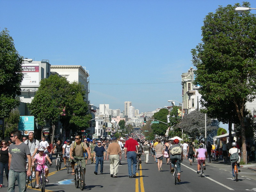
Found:
[[[154,113],[153,118],[155,120],[159,120],[164,123],[167,123],[168,113],[169,113],[169,110],[163,108],[163,109],[160,109],[158,112]],[[155,134],[163,136],[165,138],[165,133],[166,133],[166,130],[168,129],[168,126],[162,122],[159,122],[159,124],[152,124],[151,128]]]

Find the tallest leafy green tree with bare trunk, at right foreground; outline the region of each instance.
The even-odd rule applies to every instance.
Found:
[[[245,162],[245,103],[256,98],[256,18],[250,11],[236,13],[238,6],[220,6],[205,17],[202,43],[192,55],[203,106],[210,101],[227,103],[226,108],[231,106],[237,113]],[[242,6],[250,4],[244,2]]]

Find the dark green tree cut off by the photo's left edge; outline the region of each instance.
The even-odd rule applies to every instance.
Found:
[[[10,111],[20,103],[16,96],[21,94],[22,61],[23,58],[15,49],[13,39],[5,28],[0,32],[0,119],[8,117]]]

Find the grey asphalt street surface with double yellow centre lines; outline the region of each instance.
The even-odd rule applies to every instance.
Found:
[[[127,162],[122,160],[122,165],[119,165],[118,178],[111,178],[109,173],[109,162],[104,161],[104,174],[95,175],[94,164],[86,166],[86,187],[84,191],[135,191],[135,192],[150,192],[150,191],[163,191],[165,189],[175,189],[179,191],[192,191],[198,190],[211,191],[256,191],[255,172],[241,168],[241,172],[238,175],[238,182],[232,179],[231,165],[221,164],[213,162],[206,164],[206,170],[203,178],[199,174],[196,174],[196,163],[189,165],[187,159],[183,160],[181,164],[181,182],[176,186],[174,185],[174,178],[170,174],[170,167],[166,164],[166,160],[163,160],[163,171],[158,172],[157,164],[152,156],[149,157],[149,163],[144,163],[144,156],[142,156],[142,164],[140,171],[137,171],[136,178],[128,177]],[[53,161],[55,164],[55,161]],[[50,183],[46,184],[47,192],[67,192],[67,191],[80,191],[79,188],[75,188],[73,176],[67,174],[67,169],[62,168],[60,171],[56,171],[55,166],[50,167],[50,173],[48,178]],[[100,170],[100,167],[99,167]],[[100,171],[98,171],[100,172]],[[4,177],[4,184],[6,185],[6,177]],[[29,184],[30,185],[30,184]],[[18,186],[16,186],[18,191]],[[40,189],[28,188],[27,191],[34,191]],[[7,187],[1,189],[1,191],[7,191]]]

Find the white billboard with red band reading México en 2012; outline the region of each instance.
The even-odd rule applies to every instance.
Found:
[[[23,73],[21,85],[39,85],[39,63],[23,63],[21,66]]]

